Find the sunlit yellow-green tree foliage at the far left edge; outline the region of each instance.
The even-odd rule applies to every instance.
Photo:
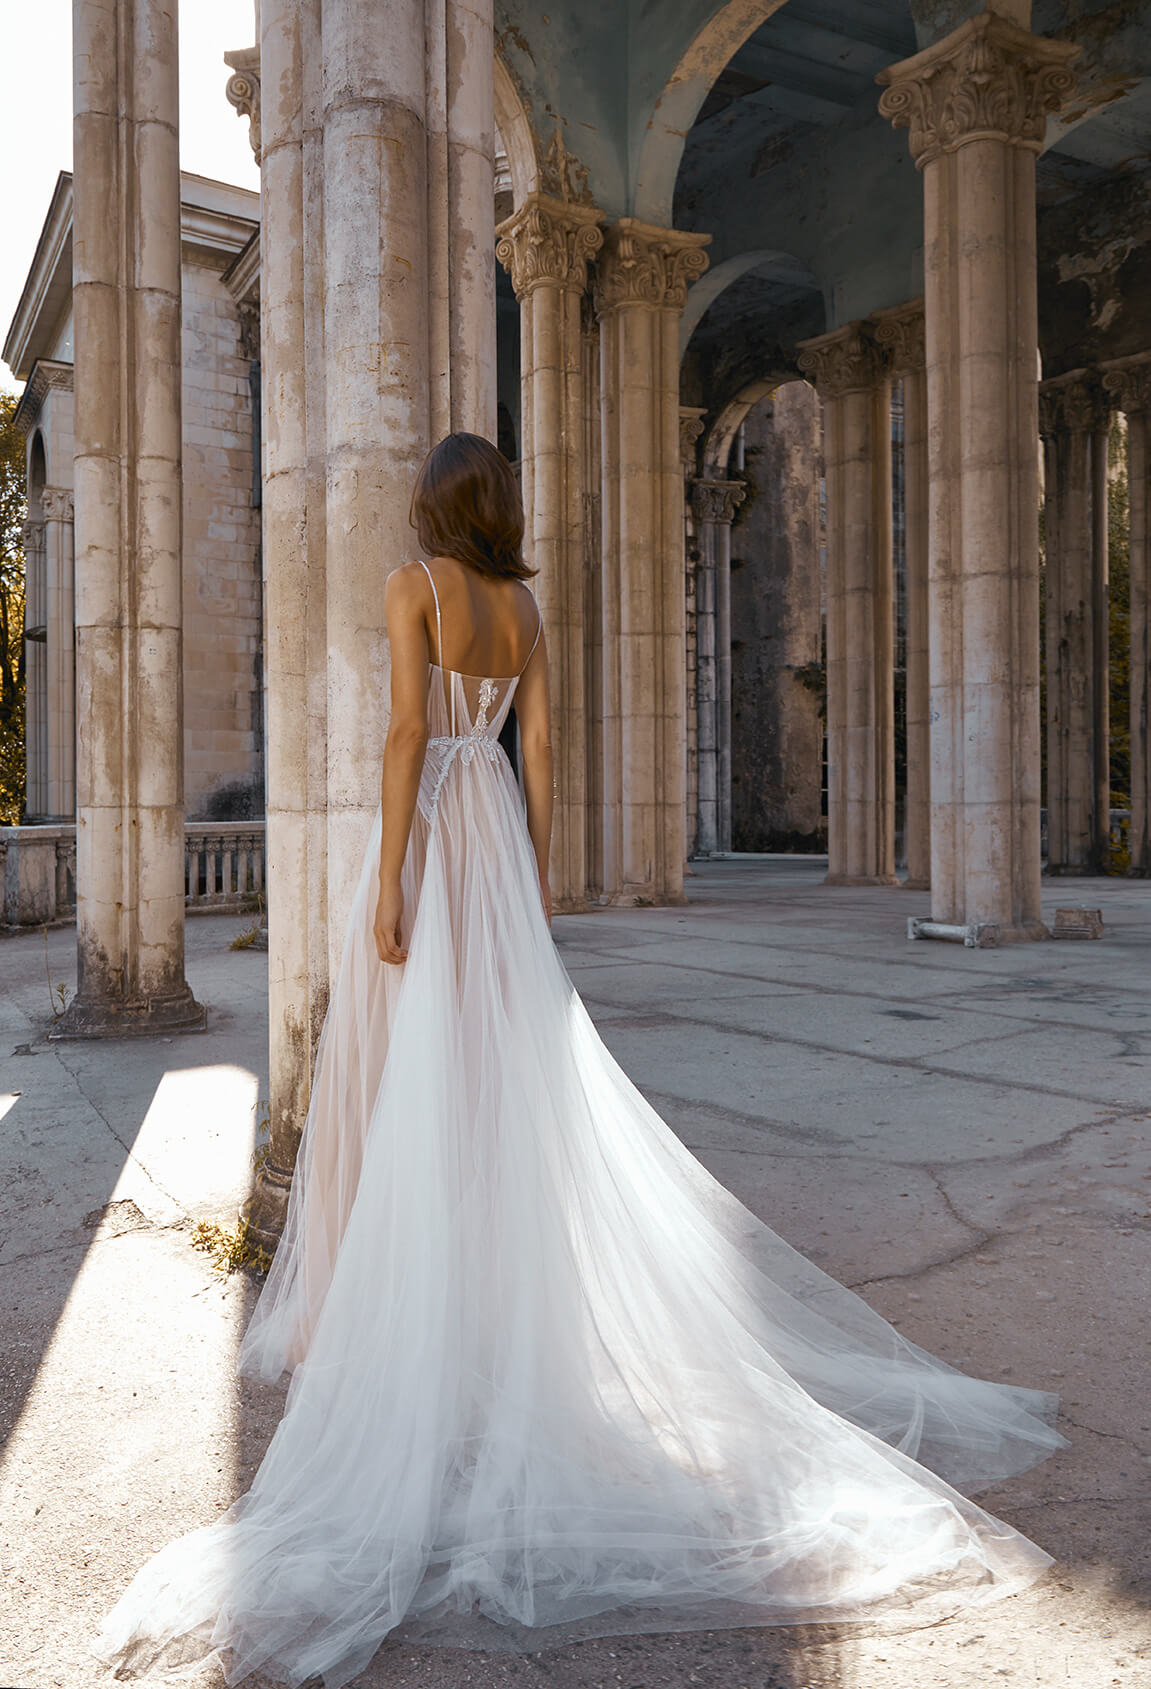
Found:
[[[0,392],[0,824],[24,816],[24,519],[27,486],[17,395]]]

